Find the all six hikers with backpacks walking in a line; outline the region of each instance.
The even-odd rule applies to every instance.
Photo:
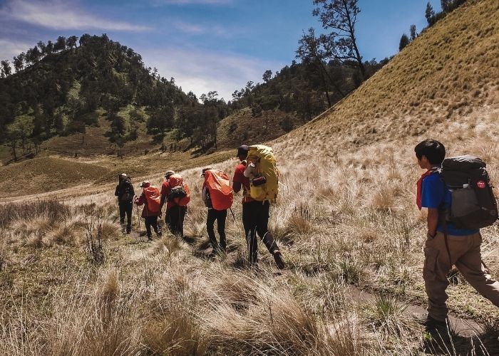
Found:
[[[424,140],[414,148],[418,165],[426,172],[417,182],[416,204],[427,208],[427,239],[424,246],[423,280],[428,295],[428,331],[448,325],[446,288],[448,273],[456,266],[478,293],[499,307],[499,282],[491,278],[480,253],[480,229],[498,219],[498,207],[485,162],[474,156],[446,158],[446,149],[436,140]],[[233,202],[233,193],[242,191],[242,225],[247,241],[248,260],[257,263],[257,242],[262,240],[278,268],[284,268],[282,253],[269,232],[270,203],[277,199],[279,172],[272,148],[264,145],[237,149],[240,163],[235,167],[232,187],[227,173],[219,169],[202,169],[202,200],[207,207],[206,228],[214,253],[226,253],[225,221]],[[165,223],[170,232],[183,236],[183,222],[190,201],[190,191],[180,174],[168,171],[161,192],[145,181],[143,192],[134,196],[126,174],[120,175],[116,187],[120,223],[130,233],[132,201],[144,205],[142,217],[148,239],[151,226],[160,236],[158,216],[166,201]],[[125,215],[127,224],[125,226]],[[215,237],[215,221],[219,241]]]

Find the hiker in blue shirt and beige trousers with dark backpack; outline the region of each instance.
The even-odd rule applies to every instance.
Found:
[[[447,274],[453,265],[458,268],[465,280],[478,293],[499,307],[499,282],[490,277],[488,268],[482,261],[480,254],[482,236],[480,229],[477,228],[493,224],[493,221],[497,219],[497,205],[493,198],[488,174],[484,169],[485,164],[480,159],[473,156],[461,156],[447,158],[444,161],[446,149],[441,142],[436,140],[420,142],[414,148],[414,152],[416,152],[419,167],[426,169],[426,172],[418,180],[416,195],[418,209],[428,208],[428,231],[423,266],[423,279],[428,295],[426,330],[446,330],[448,322],[446,288],[449,285]],[[473,170],[473,168],[478,167],[477,163],[480,165],[480,162],[483,164],[483,168]],[[479,174],[485,172],[485,175],[480,176],[484,177],[483,180],[478,180],[478,182],[473,180],[472,174],[476,172]],[[463,177],[464,182],[456,183]],[[485,215],[489,221],[480,225],[480,223],[475,224],[462,220],[459,224],[466,227],[458,227],[456,226],[457,222],[453,222],[458,221],[456,220],[456,211],[468,209],[470,204],[461,204],[465,201],[454,192],[470,193],[476,199],[474,195],[476,188],[473,187],[475,185],[480,190],[480,194],[485,193],[483,197],[490,201],[490,214]],[[480,213],[483,210],[478,207],[477,211]],[[494,214],[495,216],[490,219],[490,216]]]

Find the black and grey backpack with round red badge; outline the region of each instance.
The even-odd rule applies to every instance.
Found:
[[[458,229],[481,229],[498,219],[498,205],[482,159],[466,155],[443,160],[440,175],[451,191],[446,221]]]

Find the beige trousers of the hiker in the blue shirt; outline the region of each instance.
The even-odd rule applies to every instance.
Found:
[[[424,248],[423,279],[428,295],[428,316],[440,321],[447,318],[447,274],[453,265],[478,293],[499,307],[499,282],[490,278],[480,253],[482,236],[479,233],[466,236],[448,235],[447,239],[450,260],[441,232],[433,239],[428,238]]]

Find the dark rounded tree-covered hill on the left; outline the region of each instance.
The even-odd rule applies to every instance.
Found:
[[[138,123],[147,121],[151,135],[164,135],[174,112],[196,107],[195,95],[182,92],[172,79],[145,68],[132,48],[105,34],[59,37],[14,57],[16,73],[2,61],[0,79],[0,140],[11,148],[30,141],[35,146],[54,135],[85,132],[110,122],[107,136],[123,145],[137,137]],[[123,117],[119,112],[132,105]],[[129,118],[132,120],[128,120]],[[148,119],[148,120],[146,120]]]

